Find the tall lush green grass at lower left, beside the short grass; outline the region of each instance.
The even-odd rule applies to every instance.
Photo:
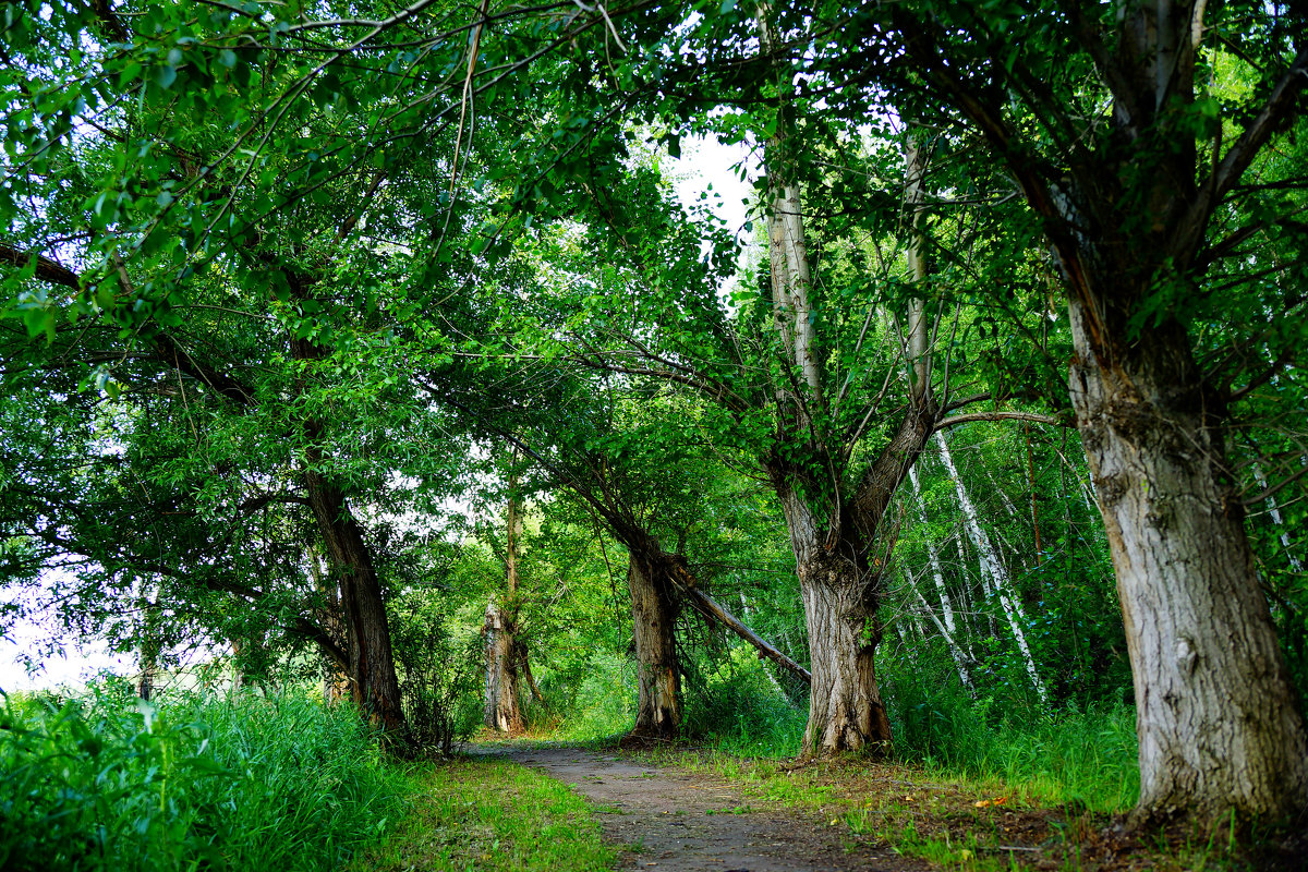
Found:
[[[402,800],[348,709],[307,696],[8,697],[0,868],[327,869]]]

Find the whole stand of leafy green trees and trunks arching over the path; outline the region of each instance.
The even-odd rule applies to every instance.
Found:
[[[4,620],[1303,812],[1296,4],[4,14]]]

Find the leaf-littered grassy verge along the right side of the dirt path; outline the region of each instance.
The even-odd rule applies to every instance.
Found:
[[[726,779],[751,805],[797,809],[846,843],[963,872],[1198,872],[1303,868],[1283,846],[1241,843],[1228,828],[1133,833],[1084,803],[1049,803],[1042,782],[943,774],[858,756],[789,767],[714,749],[642,752],[651,763]]]

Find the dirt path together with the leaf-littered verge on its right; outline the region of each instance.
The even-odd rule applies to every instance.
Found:
[[[583,796],[625,869],[1308,868],[1303,843],[1250,859],[1232,854],[1222,830],[1142,838],[1121,816],[1041,807],[1002,783],[933,778],[897,763],[795,766],[685,748],[632,753],[523,741],[468,753],[540,771]]]

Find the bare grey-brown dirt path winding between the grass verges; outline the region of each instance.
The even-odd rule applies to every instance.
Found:
[[[909,872],[891,852],[842,843],[844,826],[747,800],[710,775],[577,749],[477,749],[542,769],[596,805],[606,839],[636,845],[623,868],[654,872]],[[560,871],[562,872],[562,871]]]

